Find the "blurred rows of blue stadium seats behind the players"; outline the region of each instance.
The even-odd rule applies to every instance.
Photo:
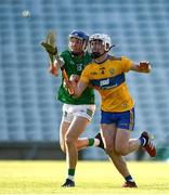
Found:
[[[24,9],[30,10],[30,17],[22,17]],[[62,104],[55,94],[60,78],[48,73],[40,41],[55,29],[62,51],[68,34],[82,29],[110,35],[115,55],[151,62],[151,75],[127,76],[135,100],[133,136],[147,129],[162,147],[169,138],[168,21],[167,0],[0,1],[0,142],[58,140]],[[99,121],[98,110],[83,134],[94,135]],[[86,158],[92,158],[90,154]],[[95,155],[103,157],[100,152]]]

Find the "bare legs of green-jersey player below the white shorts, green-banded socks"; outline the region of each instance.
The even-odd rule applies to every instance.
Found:
[[[87,146],[91,146],[92,144],[99,144],[98,139],[78,139],[78,136],[83,132],[86,126],[88,125],[89,120],[84,117],[75,117],[72,123],[63,122],[63,133],[61,133],[61,139],[63,140],[63,145],[66,151],[66,160],[67,160],[67,179],[63,186],[75,186],[74,176],[75,176],[75,168],[77,164],[77,151]],[[78,128],[77,128],[78,127]],[[64,129],[66,128],[66,129]],[[66,143],[65,143],[66,142]],[[98,145],[96,144],[96,145]]]

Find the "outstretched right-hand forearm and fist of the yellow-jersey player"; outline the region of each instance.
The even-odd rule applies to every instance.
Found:
[[[151,73],[152,67],[150,62],[141,61],[140,63],[133,63],[130,69],[139,73]]]

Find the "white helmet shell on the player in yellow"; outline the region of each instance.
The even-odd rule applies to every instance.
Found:
[[[89,38],[89,42],[92,40],[102,40],[103,44],[105,46],[105,51],[109,51],[112,46],[110,37],[105,34],[93,34]]]

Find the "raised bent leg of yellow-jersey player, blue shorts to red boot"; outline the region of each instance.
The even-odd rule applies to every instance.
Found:
[[[150,142],[147,132],[143,132],[139,139],[130,139],[130,133],[134,127],[134,109],[117,114],[117,117],[116,152],[126,156],[143,146],[151,156],[154,156],[156,152],[155,146]]]

